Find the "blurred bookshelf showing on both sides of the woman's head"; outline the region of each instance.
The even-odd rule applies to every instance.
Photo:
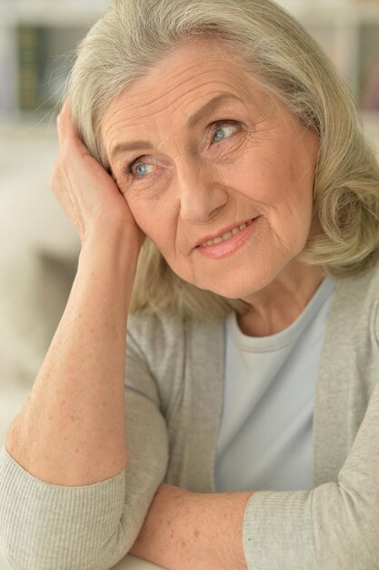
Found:
[[[0,123],[51,121],[74,61],[68,55],[109,1],[0,0]],[[379,124],[379,0],[279,4],[314,36]]]

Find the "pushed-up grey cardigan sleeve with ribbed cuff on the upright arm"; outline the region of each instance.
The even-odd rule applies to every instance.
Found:
[[[108,570],[135,543],[164,480],[168,438],[155,380],[130,333],[126,341],[128,464],[85,486],[45,483],[0,452],[0,547],[16,570]]]

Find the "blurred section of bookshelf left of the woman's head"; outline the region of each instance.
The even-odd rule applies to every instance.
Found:
[[[0,126],[51,122],[74,50],[110,0],[0,0]]]

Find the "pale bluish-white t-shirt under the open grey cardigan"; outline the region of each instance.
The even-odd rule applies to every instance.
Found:
[[[313,488],[313,414],[327,312],[325,278],[287,329],[244,335],[226,319],[224,408],[214,467],[218,493]]]

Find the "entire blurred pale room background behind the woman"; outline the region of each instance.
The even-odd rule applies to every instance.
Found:
[[[379,0],[278,3],[344,76],[379,156]],[[0,0],[0,443],[32,388],[75,277],[79,240],[49,190],[55,107],[75,46],[108,5]]]

